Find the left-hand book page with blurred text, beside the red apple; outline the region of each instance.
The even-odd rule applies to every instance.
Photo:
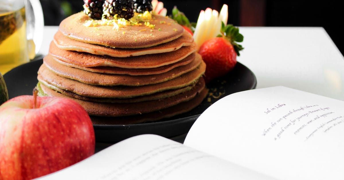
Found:
[[[271,178],[181,143],[146,134],[121,141],[73,166],[39,179],[266,180]]]

